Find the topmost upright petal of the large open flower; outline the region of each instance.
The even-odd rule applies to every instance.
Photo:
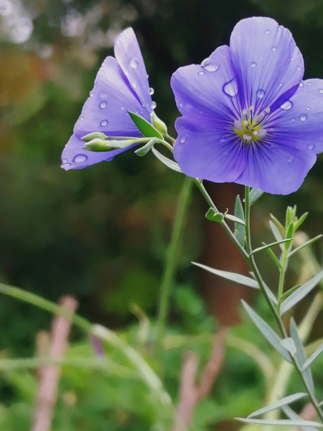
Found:
[[[292,34],[274,19],[253,17],[238,22],[230,49],[244,108],[254,106],[256,112],[276,108],[275,100],[280,98],[282,104],[297,90],[304,75],[303,58]]]

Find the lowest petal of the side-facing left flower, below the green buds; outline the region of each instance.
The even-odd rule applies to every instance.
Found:
[[[84,144],[85,142],[78,138],[75,134],[70,137],[62,153],[61,168],[65,169],[65,171],[68,171],[68,169],[86,168],[87,166],[94,165],[94,163],[103,162],[104,160],[106,162],[110,162],[117,154],[123,153],[123,151],[138,145],[133,144],[128,148],[96,153],[95,151],[83,150],[82,147],[84,147]]]

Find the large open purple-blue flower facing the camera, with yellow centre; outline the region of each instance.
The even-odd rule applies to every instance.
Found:
[[[243,19],[230,47],[179,68],[171,85],[183,115],[174,157],[187,175],[272,194],[296,191],[323,151],[323,81],[308,79],[290,32]]]

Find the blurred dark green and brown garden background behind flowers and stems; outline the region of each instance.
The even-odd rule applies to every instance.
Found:
[[[179,113],[169,85],[172,72],[200,63],[216,47],[228,44],[234,25],[249,16],[270,16],[289,28],[304,56],[305,79],[323,78],[321,0],[0,0],[3,283],[55,302],[64,294],[73,295],[80,315],[128,334],[130,343],[138,315],[148,315],[154,327],[182,176],[169,171],[151,153],[138,158],[132,151],[112,162],[65,172],[60,168],[62,149],[98,68],[106,56],[113,55],[114,39],[124,28],[135,30],[154,88],[155,111],[168,125],[169,134],[176,136],[173,124]],[[298,216],[310,212],[302,226],[308,235],[323,231],[322,170],[323,156],[319,155],[297,193],[266,194],[252,207],[254,244],[272,240],[269,212],[284,221],[286,205],[296,204]],[[206,188],[221,211],[229,208],[232,213],[236,194],[243,197],[243,187],[234,184],[206,183]],[[224,325],[233,325],[232,334],[271,352],[252,324],[244,322],[240,297],[263,313],[267,313],[265,304],[249,291],[190,263],[248,271],[220,228],[206,221],[207,209],[193,189],[178,251],[167,333],[200,336],[190,348],[199,351],[202,362],[210,340],[205,342],[203,334]],[[321,251],[322,244],[316,244],[319,262]],[[268,256],[261,259],[259,266],[274,287],[277,271],[269,265]],[[301,269],[295,261],[289,274],[291,285],[296,284]],[[298,320],[310,299],[297,310]],[[135,314],[132,304],[137,306]],[[37,334],[49,329],[51,319],[40,309],[2,296],[0,355],[33,356]],[[321,325],[314,324],[314,336],[322,337],[322,332]],[[154,331],[151,337],[154,340]],[[71,351],[90,354],[89,344],[77,329],[70,338]],[[185,343],[168,349],[163,363],[164,384],[174,400]],[[160,371],[160,365],[153,366]],[[316,378],[322,387],[318,365]],[[196,430],[237,429],[230,419],[255,410],[265,397],[264,378],[255,362],[232,347],[226,351],[217,382],[197,408]],[[291,382],[299,384],[297,379]],[[53,430],[163,429],[155,426],[155,413],[142,400],[127,399],[129,383],[109,380],[104,384],[99,375],[66,368],[60,385]],[[29,429],[36,391],[37,377],[32,371],[0,376],[0,429]]]

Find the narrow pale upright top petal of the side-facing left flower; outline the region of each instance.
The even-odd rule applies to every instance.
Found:
[[[142,107],[146,112],[151,112],[148,75],[132,28],[127,28],[117,38],[114,44],[114,55],[129,80],[130,86],[137,94]],[[148,120],[150,121],[150,118]]]

